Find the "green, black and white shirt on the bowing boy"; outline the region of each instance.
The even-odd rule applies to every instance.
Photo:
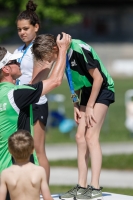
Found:
[[[102,88],[114,92],[114,81],[104,67],[95,50],[81,40],[73,39],[68,50],[74,90],[82,87],[92,87],[93,78],[88,73],[89,69],[98,68],[103,77]]]

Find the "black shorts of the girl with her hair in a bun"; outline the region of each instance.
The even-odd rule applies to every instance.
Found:
[[[46,126],[48,119],[48,102],[42,105],[33,104],[33,123],[40,121]]]

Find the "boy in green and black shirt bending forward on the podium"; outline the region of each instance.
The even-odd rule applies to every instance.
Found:
[[[36,37],[33,52],[37,60],[56,61],[58,46],[54,35]],[[43,45],[45,44],[45,45]],[[34,47],[40,49],[39,54]],[[55,52],[52,52],[52,49]],[[52,52],[52,53],[51,53]],[[74,119],[77,123],[76,143],[78,159],[78,184],[60,198],[62,200],[101,200],[102,188],[99,178],[102,165],[102,152],[99,143],[100,131],[109,105],[115,101],[114,81],[95,50],[87,43],[72,39],[67,51],[66,75],[71,91],[79,101],[74,101]],[[68,71],[68,64],[70,70]],[[70,81],[71,80],[71,81]],[[91,179],[88,183],[88,161],[91,162]]]

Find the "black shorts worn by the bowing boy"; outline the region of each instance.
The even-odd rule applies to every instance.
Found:
[[[90,87],[82,88],[80,105],[83,105],[83,106],[87,105],[88,99],[91,94],[91,90],[92,90],[92,88],[90,88]],[[102,104],[109,106],[114,101],[115,101],[114,92],[107,90],[107,89],[102,89],[102,90],[100,90],[95,103],[102,103]]]

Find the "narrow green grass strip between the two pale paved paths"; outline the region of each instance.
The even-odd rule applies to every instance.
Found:
[[[50,161],[50,166],[77,167],[77,159]],[[102,169],[133,170],[133,154],[103,156]]]

